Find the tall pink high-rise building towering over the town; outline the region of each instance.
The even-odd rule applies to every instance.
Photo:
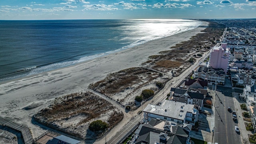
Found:
[[[230,49],[227,44],[222,43],[221,46],[214,46],[210,54],[210,66],[212,68],[222,68],[227,74],[228,64],[230,61]]]

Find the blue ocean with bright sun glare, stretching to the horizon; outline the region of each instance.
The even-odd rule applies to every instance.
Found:
[[[200,24],[179,19],[0,20],[0,82],[91,60]]]

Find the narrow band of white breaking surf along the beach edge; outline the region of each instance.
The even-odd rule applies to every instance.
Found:
[[[194,21],[197,21],[198,25],[201,26],[202,21],[200,21],[200,20],[194,20]],[[195,25],[195,26],[198,26],[198,25]],[[196,27],[196,28],[198,28],[198,27]],[[92,54],[92,55],[88,55],[88,56],[86,56],[86,55],[75,56],[75,57],[72,57],[69,59],[58,60],[56,62],[50,62],[50,63],[46,63],[46,64],[38,64],[38,65],[31,65],[28,67],[24,67],[23,69],[0,75],[0,84],[4,83],[6,81],[12,81],[12,80],[20,79],[20,78],[25,78],[28,76],[33,76],[33,75],[41,74],[44,72],[49,72],[49,71],[57,70],[60,68],[65,68],[65,67],[69,67],[69,66],[74,66],[76,64],[88,62],[95,58],[100,58],[102,56],[107,56],[109,54],[114,54],[114,53],[121,52],[121,51],[130,49],[130,48],[138,47],[138,46],[140,46],[142,44],[146,44],[147,42],[150,42],[150,41],[154,41],[154,40],[166,38],[169,36],[173,36],[175,34],[179,34],[182,32],[186,32],[186,31],[189,31],[189,29],[191,29],[191,27],[179,29],[178,31],[171,33],[171,35],[168,34],[168,35],[164,35],[164,36],[158,36],[156,38],[151,38],[150,40],[138,40],[131,44],[128,44],[126,46],[118,48],[116,50],[102,52],[99,54]],[[66,64],[64,64],[64,63],[66,63]],[[53,65],[57,65],[57,66],[53,66]],[[45,68],[45,67],[48,67],[48,68]],[[42,69],[44,69],[44,70],[42,70]]]

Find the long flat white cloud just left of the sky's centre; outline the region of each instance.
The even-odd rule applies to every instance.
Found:
[[[118,10],[118,8],[114,8],[113,5],[105,5],[105,4],[85,4],[83,5],[84,10]]]

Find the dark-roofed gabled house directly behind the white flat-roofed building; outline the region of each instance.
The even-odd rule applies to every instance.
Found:
[[[199,91],[189,91],[188,88],[171,88],[170,100],[185,104],[196,104],[200,107],[204,103],[204,94]]]

